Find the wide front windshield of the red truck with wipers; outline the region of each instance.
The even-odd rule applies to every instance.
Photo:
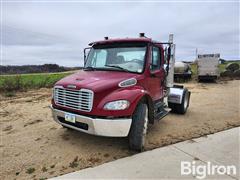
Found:
[[[85,68],[141,73],[144,67],[145,54],[146,45],[92,47]]]

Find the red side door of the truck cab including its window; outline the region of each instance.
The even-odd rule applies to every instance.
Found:
[[[148,78],[149,92],[154,101],[163,97],[164,90],[163,51],[157,46],[151,47],[150,77]]]

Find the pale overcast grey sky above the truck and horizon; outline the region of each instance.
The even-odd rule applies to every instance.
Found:
[[[82,66],[92,41],[174,34],[177,61],[220,53],[240,59],[239,1],[2,1],[1,64]]]

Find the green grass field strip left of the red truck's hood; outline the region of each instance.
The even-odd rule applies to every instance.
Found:
[[[12,96],[13,92],[25,91],[28,89],[50,88],[58,80],[73,72],[64,73],[42,73],[23,75],[2,75],[0,76],[0,92]]]

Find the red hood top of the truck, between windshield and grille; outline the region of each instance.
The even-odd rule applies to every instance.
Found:
[[[76,86],[76,89],[86,88],[94,92],[105,89],[117,88],[119,82],[137,77],[138,74],[126,73],[120,71],[84,71],[67,76],[55,85],[61,85],[67,88],[68,85]]]

